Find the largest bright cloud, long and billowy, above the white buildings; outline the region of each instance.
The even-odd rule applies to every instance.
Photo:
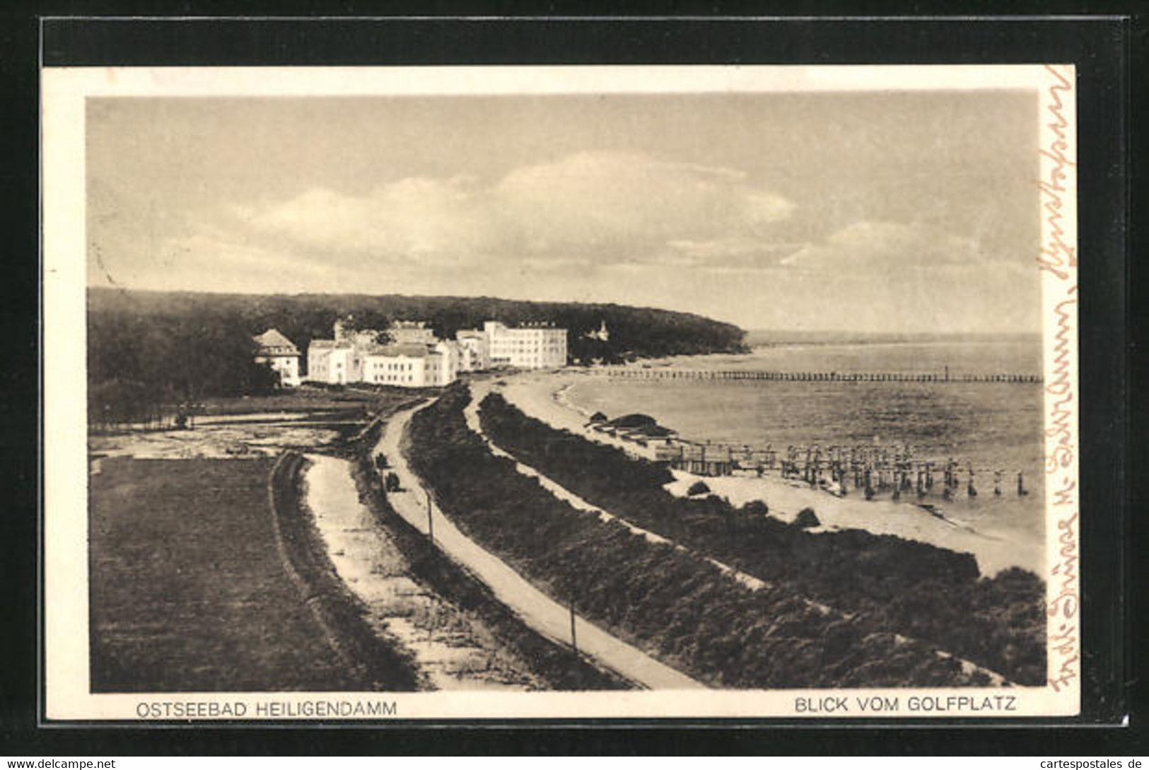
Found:
[[[360,195],[313,187],[233,208],[231,218],[262,241],[329,259],[557,268],[741,262],[769,251],[769,233],[793,210],[733,169],[585,152],[487,183],[411,177]]]

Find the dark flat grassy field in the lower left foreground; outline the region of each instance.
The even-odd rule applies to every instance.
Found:
[[[91,477],[93,692],[360,690],[285,573],[272,459],[106,459]]]

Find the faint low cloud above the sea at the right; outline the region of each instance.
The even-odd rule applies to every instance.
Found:
[[[896,271],[972,265],[994,261],[973,238],[899,222],[855,222],[781,260],[808,270]]]

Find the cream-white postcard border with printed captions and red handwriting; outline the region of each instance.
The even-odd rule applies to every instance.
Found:
[[[1077,167],[1072,66],[51,68],[43,71],[44,629],[49,719],[1040,717],[1080,707]],[[722,93],[1027,88],[1041,101],[1043,687],[705,693],[88,691],[85,100],[88,97]],[[862,708],[863,700],[871,708]],[[371,706],[373,703],[373,706]],[[873,710],[873,704],[884,708]],[[164,706],[167,704],[167,706]],[[381,704],[381,706],[380,706]],[[887,708],[892,707],[892,708]],[[237,709],[242,708],[242,714]],[[178,711],[178,714],[176,713]],[[322,711],[322,714],[321,714]]]

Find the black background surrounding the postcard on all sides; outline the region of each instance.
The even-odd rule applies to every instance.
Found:
[[[414,3],[412,3],[414,5]],[[492,18],[500,6],[430,6],[431,15],[464,18],[363,18],[398,13],[367,2],[16,2],[0,8],[0,233],[2,233],[5,356],[0,394],[0,755],[115,754],[996,754],[1066,756],[1146,753],[1143,676],[1144,572],[1140,565],[1149,470],[1149,428],[1138,407],[1146,382],[1146,311],[1134,254],[1144,231],[1144,155],[1129,134],[1144,116],[1146,24],[1138,3],[1012,3],[1013,14],[1093,16],[984,17],[992,3],[833,2],[836,16],[961,13],[963,17],[809,18],[800,3],[747,8],[679,3],[677,18]],[[586,6],[568,13],[586,13]],[[201,18],[226,10],[270,18]],[[410,10],[410,9],[406,9]],[[555,14],[554,3],[519,14]],[[776,14],[733,18],[715,14]],[[151,20],[78,17],[152,15]],[[617,13],[617,10],[616,10]],[[634,16],[665,13],[649,6]],[[184,16],[179,21],[157,14]],[[325,14],[323,20],[306,18]],[[1113,14],[1102,17],[1100,14]],[[1124,17],[1119,16],[1125,14]],[[356,18],[330,16],[355,15]],[[699,16],[695,16],[699,15]],[[43,18],[45,16],[56,18]],[[69,18],[69,16],[71,16]],[[687,17],[688,16],[688,17]],[[290,18],[285,18],[290,17]],[[43,23],[43,38],[40,37]],[[40,41],[43,40],[43,49]],[[40,447],[38,262],[38,77],[44,66],[423,66],[631,63],[1040,63],[1078,67],[1081,545],[1084,714],[1026,727],[970,722],[940,729],[851,722],[786,726],[756,723],[523,723],[429,726],[391,723],[260,730],[233,726],[140,729],[40,723],[37,657],[37,528],[43,513]],[[1129,101],[1129,98],[1133,101]],[[1140,175],[1132,174],[1138,163]],[[1132,190],[1134,180],[1136,185]],[[1140,193],[1140,194],[1139,194]],[[1140,201],[1133,206],[1131,201]],[[1132,365],[1131,365],[1132,364]],[[1143,399],[1142,399],[1143,400]],[[1131,407],[1133,410],[1131,411]],[[48,447],[51,451],[51,447]],[[1147,514],[1149,515],[1149,514]],[[1139,699],[1140,696],[1140,699]],[[1133,711],[1132,727],[1113,726]],[[981,726],[974,726],[974,725]],[[1039,726],[1040,725],[1040,726]],[[1056,726],[1061,725],[1061,726]],[[494,729],[484,729],[494,727]],[[446,734],[445,734],[446,733]]]

